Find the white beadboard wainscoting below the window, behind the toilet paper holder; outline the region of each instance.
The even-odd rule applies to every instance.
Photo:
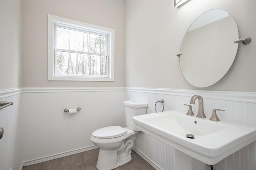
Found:
[[[125,126],[123,99],[123,88],[24,89],[24,165],[92,149],[93,131]]]

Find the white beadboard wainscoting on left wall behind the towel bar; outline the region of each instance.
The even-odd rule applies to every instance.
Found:
[[[0,90],[0,101],[14,104],[0,110],[0,126],[4,136],[0,140],[0,170],[19,170],[22,166],[21,89]]]

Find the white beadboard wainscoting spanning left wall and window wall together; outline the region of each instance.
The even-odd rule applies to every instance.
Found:
[[[0,110],[0,170],[94,149],[93,131],[125,126],[124,88],[20,88],[0,90],[0,100],[14,102]]]

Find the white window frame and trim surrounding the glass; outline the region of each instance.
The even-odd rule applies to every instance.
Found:
[[[74,28],[90,31],[96,34],[106,36],[107,41],[107,75],[56,75],[56,31],[55,25],[62,25],[68,29]],[[114,81],[114,47],[115,30],[107,27],[93,25],[81,21],[70,20],[48,14],[48,80],[49,81]],[[80,52],[78,52],[80,53]]]

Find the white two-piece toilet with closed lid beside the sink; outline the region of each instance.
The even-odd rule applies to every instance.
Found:
[[[132,100],[124,101],[126,126],[108,126],[92,133],[91,141],[100,148],[98,170],[111,170],[132,160],[131,150],[139,129],[134,127],[133,116],[147,112],[147,104]]]

